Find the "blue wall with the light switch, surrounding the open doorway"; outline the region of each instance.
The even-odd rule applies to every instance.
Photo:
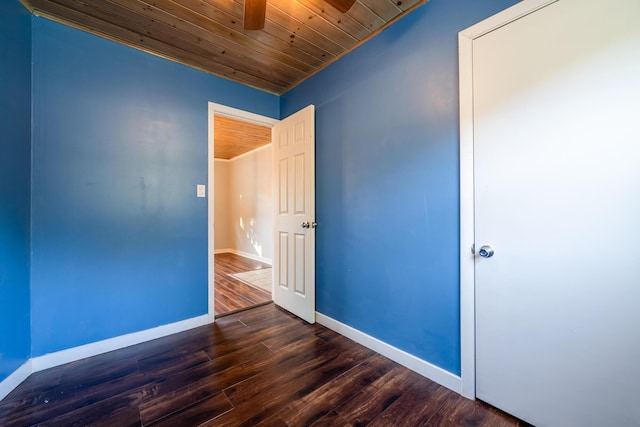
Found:
[[[207,101],[279,98],[33,19],[32,356],[207,312]]]

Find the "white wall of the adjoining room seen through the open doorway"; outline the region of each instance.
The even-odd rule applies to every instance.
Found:
[[[271,145],[215,163],[215,249],[273,257]]]

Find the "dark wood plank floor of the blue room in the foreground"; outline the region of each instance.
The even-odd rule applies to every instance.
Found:
[[[524,426],[273,304],[38,372],[0,425]]]

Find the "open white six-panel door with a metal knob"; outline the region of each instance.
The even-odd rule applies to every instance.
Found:
[[[273,127],[274,302],[315,322],[315,108]]]

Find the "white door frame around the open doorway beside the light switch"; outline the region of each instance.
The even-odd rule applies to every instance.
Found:
[[[280,120],[273,119],[267,116],[261,116],[259,114],[251,113],[249,111],[239,110],[233,107],[227,107],[226,105],[216,104],[214,102],[208,103],[208,120],[209,120],[209,130],[207,137],[207,187],[209,187],[209,191],[207,197],[209,198],[207,202],[207,268],[208,268],[208,317],[209,323],[213,323],[215,321],[215,259],[214,259],[214,251],[215,251],[215,239],[214,239],[214,117],[215,116],[224,116],[230,117],[237,120],[242,120],[244,122],[250,122],[257,125],[267,126],[269,128],[273,127],[274,124],[278,123]]]

